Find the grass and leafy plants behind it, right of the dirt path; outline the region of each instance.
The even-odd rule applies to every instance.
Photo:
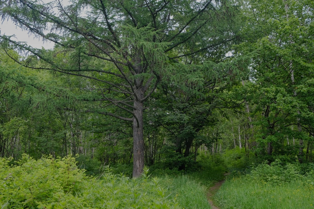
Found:
[[[314,208],[314,164],[265,161],[230,176],[215,199],[221,209]]]

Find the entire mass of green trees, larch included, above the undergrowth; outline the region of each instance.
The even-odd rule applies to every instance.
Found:
[[[1,156],[78,153],[133,162],[133,177],[144,163],[186,169],[200,150],[311,161],[313,10],[308,0],[2,1],[3,20],[55,47],[0,35]]]

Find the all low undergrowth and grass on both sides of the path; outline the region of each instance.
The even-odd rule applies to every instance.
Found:
[[[259,163],[240,149],[200,153],[182,171],[156,163],[137,179],[130,165],[102,166],[86,156],[0,158],[0,208],[210,209],[208,188],[229,171],[214,198],[221,209],[314,209],[313,163]]]

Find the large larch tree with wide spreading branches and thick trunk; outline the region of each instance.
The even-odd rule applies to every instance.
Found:
[[[232,31],[217,25],[230,19],[234,6],[211,0],[77,0],[67,6],[60,0],[5,0],[0,3],[2,19],[12,19],[56,47],[36,49],[6,35],[1,35],[1,42],[4,48],[28,52],[27,59],[16,60],[26,67],[88,80],[82,88],[85,94],[76,99],[99,105],[79,111],[132,122],[133,177],[138,177],[144,166],[145,100],[160,79],[177,67],[174,63],[186,56],[210,54],[232,39]],[[212,36],[214,30],[222,35]],[[32,65],[31,60],[38,58],[44,64]],[[125,114],[116,114],[111,105]]]

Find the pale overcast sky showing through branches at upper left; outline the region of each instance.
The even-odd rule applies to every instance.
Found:
[[[41,0],[41,3],[49,3],[53,2],[51,0]],[[69,0],[60,0],[62,5],[66,6],[70,4]],[[48,30],[46,32],[49,32]],[[43,40],[42,37],[36,37],[34,34],[31,34],[26,29],[21,29],[18,25],[14,24],[11,19],[1,20],[0,22],[0,33],[1,35],[11,36],[11,40],[14,41],[22,41],[26,42],[27,45],[32,46],[34,48],[41,49],[44,47],[45,49],[52,49],[54,47],[54,43],[49,40]]]

